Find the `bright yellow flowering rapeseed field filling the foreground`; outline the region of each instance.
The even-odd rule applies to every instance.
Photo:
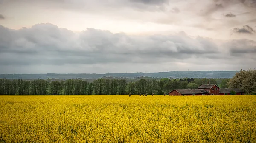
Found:
[[[255,143],[256,96],[0,96],[0,143]]]

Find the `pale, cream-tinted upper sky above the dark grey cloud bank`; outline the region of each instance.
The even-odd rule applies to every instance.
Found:
[[[49,22],[73,31],[88,27],[114,33],[185,31],[227,39],[233,28],[254,27],[256,4],[255,0],[3,0],[0,13],[13,17],[2,25],[14,29]]]

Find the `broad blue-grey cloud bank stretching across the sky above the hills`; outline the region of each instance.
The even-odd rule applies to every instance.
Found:
[[[0,25],[0,73],[107,73],[255,68],[256,42],[169,35],[128,35],[52,24]]]

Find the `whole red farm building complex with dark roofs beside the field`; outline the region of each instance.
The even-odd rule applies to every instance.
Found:
[[[231,91],[235,91],[236,95],[243,95],[243,91],[239,89],[221,89],[216,84],[202,84],[198,89],[177,89],[172,90],[168,95],[181,96],[181,95],[230,95]]]

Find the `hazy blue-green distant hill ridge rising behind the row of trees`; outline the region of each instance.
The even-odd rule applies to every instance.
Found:
[[[98,79],[102,77],[153,77],[153,78],[232,78],[239,71],[170,71],[158,73],[46,73],[46,74],[0,74],[0,79]]]

